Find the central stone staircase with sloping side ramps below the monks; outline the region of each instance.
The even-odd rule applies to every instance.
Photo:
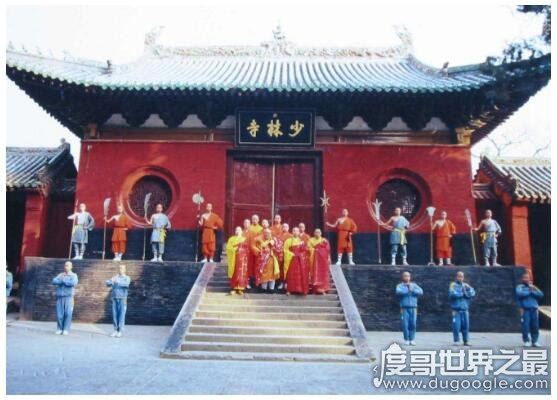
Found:
[[[334,266],[332,267],[335,268]],[[162,357],[366,362],[372,353],[355,304],[341,301],[335,275],[326,295],[230,295],[223,265],[206,264],[178,316]],[[351,303],[350,303],[351,300]],[[348,304],[343,304],[348,303]],[[344,306],[344,307],[343,307]],[[353,311],[353,310],[352,310]],[[357,313],[357,310],[356,310]],[[359,325],[358,325],[359,323]]]

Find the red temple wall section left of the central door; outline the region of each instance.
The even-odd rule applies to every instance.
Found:
[[[177,183],[169,210],[174,229],[193,229],[197,208],[192,196],[201,190],[205,202],[224,215],[226,143],[83,141],[76,199],[87,204],[102,227],[103,201],[112,198],[110,213],[122,188],[134,174],[163,171]]]

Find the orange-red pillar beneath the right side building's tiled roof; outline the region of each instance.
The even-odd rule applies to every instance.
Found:
[[[532,251],[530,248],[530,230],[528,227],[528,206],[511,204],[508,206],[509,243],[512,261],[532,270]]]

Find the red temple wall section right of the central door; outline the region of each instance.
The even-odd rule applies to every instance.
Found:
[[[400,177],[410,178],[420,189],[420,213],[433,205],[435,216],[445,210],[457,232],[468,232],[464,210],[468,208],[472,214],[475,210],[468,148],[372,144],[319,147],[323,149],[323,186],[331,198],[328,220],[333,221],[342,208],[348,208],[360,231],[374,232],[377,225],[366,200],[375,200],[375,190],[382,182]],[[382,207],[391,209],[393,205]],[[424,223],[417,232],[428,232],[428,225]]]

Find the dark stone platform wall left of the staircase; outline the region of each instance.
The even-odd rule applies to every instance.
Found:
[[[63,271],[64,259],[26,258],[21,318],[54,321],[55,287],[52,279]],[[118,263],[100,260],[74,261],[79,277],[74,320],[111,322],[110,288],[105,281],[118,273]],[[180,312],[201,263],[164,264],[125,261],[131,277],[126,322],[139,325],[172,325]]]

